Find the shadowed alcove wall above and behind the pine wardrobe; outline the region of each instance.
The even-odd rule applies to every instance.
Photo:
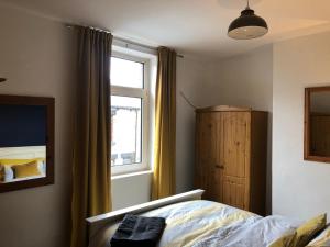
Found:
[[[207,85],[199,94],[199,104],[251,106],[270,112],[267,161],[267,212],[272,211],[272,111],[273,47],[215,63],[208,68]]]

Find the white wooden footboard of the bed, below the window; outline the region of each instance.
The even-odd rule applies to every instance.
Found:
[[[87,223],[89,225],[89,238],[91,238],[100,228],[102,228],[107,224],[116,223],[124,217],[127,214],[140,214],[145,213],[151,210],[160,209],[162,206],[170,205],[178,202],[200,200],[204,190],[193,190],[186,193],[176,194],[173,197],[146,202],[143,204],[130,206],[127,209],[113,211],[110,213],[97,215],[94,217],[87,218]]]

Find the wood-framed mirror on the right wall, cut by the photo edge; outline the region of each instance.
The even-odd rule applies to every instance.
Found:
[[[305,160],[330,162],[330,87],[305,89]]]

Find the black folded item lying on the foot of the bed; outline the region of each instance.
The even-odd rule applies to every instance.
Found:
[[[111,238],[111,247],[154,247],[165,228],[163,217],[125,215]]]

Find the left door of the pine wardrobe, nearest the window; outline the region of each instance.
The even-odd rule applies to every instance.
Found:
[[[205,189],[205,199],[216,200],[215,165],[218,158],[219,113],[197,114],[196,150],[197,166],[195,173],[196,187]]]

